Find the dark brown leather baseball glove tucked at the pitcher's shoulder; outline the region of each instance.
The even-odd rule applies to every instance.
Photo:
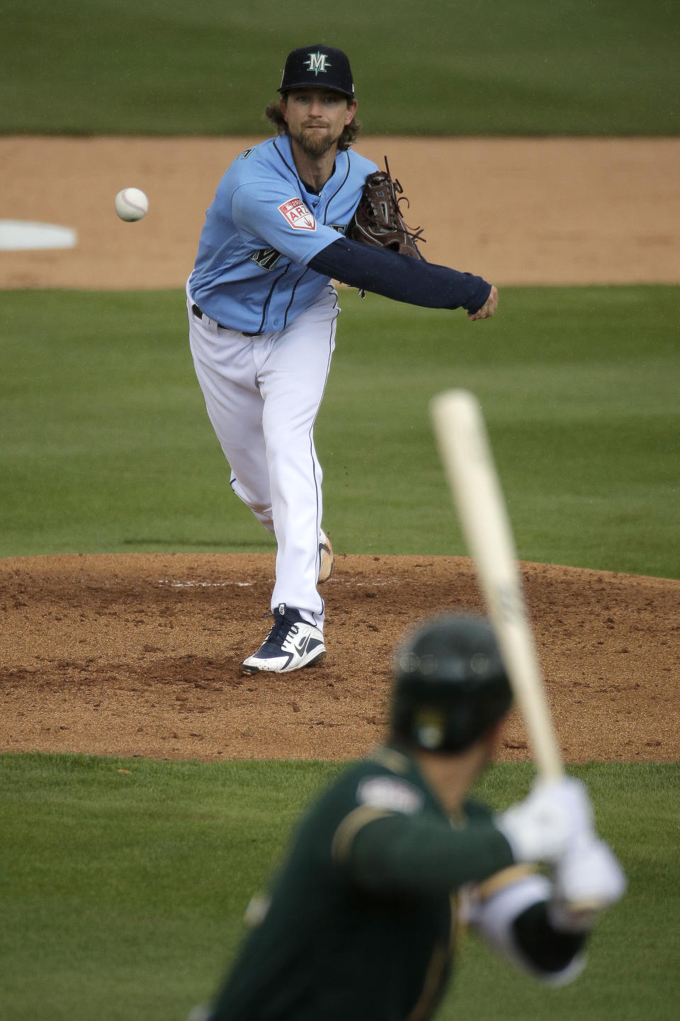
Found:
[[[389,248],[403,255],[422,259],[416,245],[416,241],[425,240],[420,237],[422,229],[418,227],[412,231],[404,223],[400,203],[406,202],[408,206],[409,200],[399,181],[390,177],[386,156],[384,161],[384,171],[376,171],[366,178],[349,236],[353,241]]]

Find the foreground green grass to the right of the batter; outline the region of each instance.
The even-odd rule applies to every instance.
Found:
[[[496,767],[482,793],[503,807],[522,795],[519,777],[528,772],[528,766]],[[470,943],[469,953],[461,956],[459,982],[447,998],[442,1019],[671,1021],[675,1017],[680,978],[673,961],[680,953],[680,937],[677,927],[659,925],[659,911],[677,914],[680,903],[677,855],[672,849],[680,835],[680,767],[590,763],[569,772],[588,785],[598,829],[626,871],[626,896],[600,919],[585,973],[563,989],[536,986],[509,972],[485,946]],[[485,990],[481,1004],[480,989]],[[461,1010],[464,1004],[467,1011]]]

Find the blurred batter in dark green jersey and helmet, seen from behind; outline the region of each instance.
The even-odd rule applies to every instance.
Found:
[[[550,985],[583,970],[626,884],[584,785],[539,781],[500,815],[468,793],[511,703],[490,627],[424,621],[395,675],[387,743],[310,808],[197,1021],[427,1021],[463,925]]]

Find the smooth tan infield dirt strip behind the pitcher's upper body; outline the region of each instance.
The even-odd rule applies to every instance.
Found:
[[[0,252],[0,288],[184,287],[230,160],[259,139],[2,138],[0,218],[74,227],[66,251]],[[505,284],[680,281],[680,138],[366,138],[387,153],[429,261]],[[113,196],[147,192],[123,224]],[[502,298],[503,300],[503,298]]]

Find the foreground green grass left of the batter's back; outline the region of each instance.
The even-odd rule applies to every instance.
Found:
[[[2,1016],[184,1021],[330,771],[0,758]]]

